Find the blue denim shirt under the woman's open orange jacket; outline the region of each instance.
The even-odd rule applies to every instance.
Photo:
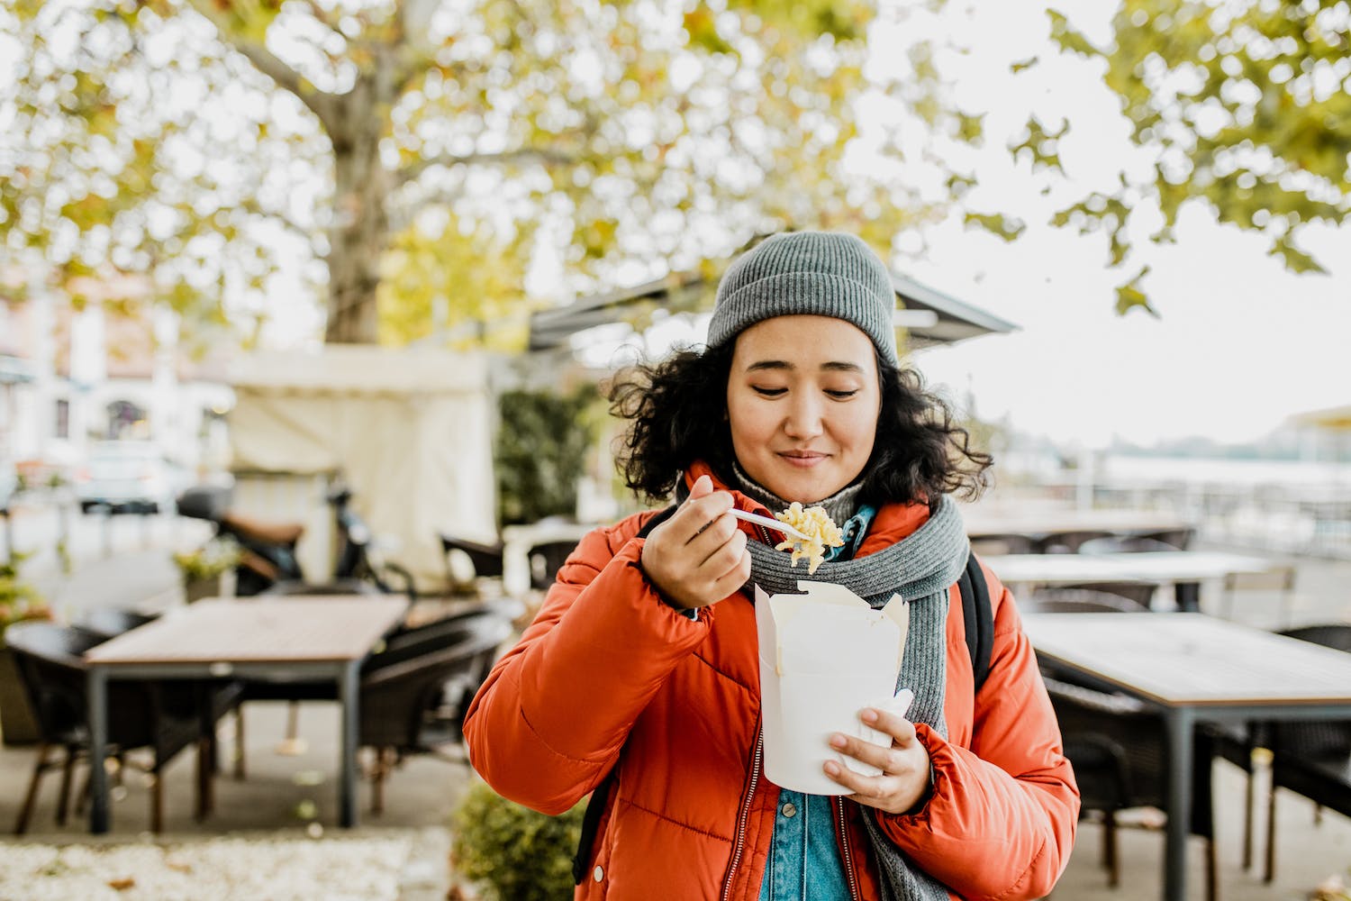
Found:
[[[877,509],[866,504],[840,531],[843,547],[825,559],[852,559]],[[835,810],[824,794],[784,789],[774,813],[774,835],[761,881],[759,901],[850,901],[848,881],[835,843]]]

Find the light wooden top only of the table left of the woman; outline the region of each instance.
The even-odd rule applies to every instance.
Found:
[[[91,663],[353,661],[408,607],[403,596],[208,598],[91,648]]]

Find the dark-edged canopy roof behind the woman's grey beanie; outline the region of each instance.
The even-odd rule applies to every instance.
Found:
[[[951,344],[978,335],[1011,332],[1017,328],[993,313],[971,307],[950,294],[892,273],[896,289],[897,326],[909,332],[909,347]],[[544,351],[566,347],[578,332],[598,326],[630,321],[644,308],[671,312],[694,312],[708,307],[705,297],[713,282],[698,272],[673,273],[666,278],[585,297],[555,309],[543,309],[530,317],[530,350]]]

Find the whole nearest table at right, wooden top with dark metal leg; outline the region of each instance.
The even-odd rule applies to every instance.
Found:
[[[1163,901],[1186,898],[1193,727],[1351,717],[1351,654],[1200,613],[1027,613],[1038,658],[1158,708],[1169,735]]]

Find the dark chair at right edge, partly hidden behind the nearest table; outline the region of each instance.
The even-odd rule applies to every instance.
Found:
[[[1351,624],[1306,625],[1281,632],[1289,638],[1351,652]],[[1252,751],[1271,751],[1271,792],[1267,794],[1267,844],[1263,879],[1275,875],[1275,790],[1302,794],[1321,808],[1351,817],[1351,720],[1293,720],[1250,727],[1244,733],[1217,732],[1225,759],[1247,773],[1243,866],[1251,863],[1254,770]]]

